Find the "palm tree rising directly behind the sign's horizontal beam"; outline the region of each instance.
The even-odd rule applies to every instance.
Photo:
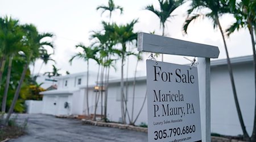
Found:
[[[165,23],[168,18],[173,18],[175,15],[171,15],[177,7],[183,4],[183,0],[158,0],[160,5],[160,10],[154,8],[153,5],[147,6],[145,9],[154,12],[156,16],[160,19],[160,27],[162,26],[162,36],[164,36]],[[162,54],[163,61],[163,54]]]

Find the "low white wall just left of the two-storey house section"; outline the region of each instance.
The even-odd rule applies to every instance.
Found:
[[[41,114],[43,110],[43,101],[26,100],[28,114]]]

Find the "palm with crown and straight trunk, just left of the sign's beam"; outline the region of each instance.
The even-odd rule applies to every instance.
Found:
[[[110,36],[113,36],[113,39],[116,39],[117,43],[122,45],[122,49],[120,50],[121,55],[121,81],[120,81],[120,87],[121,87],[121,114],[122,114],[122,121],[123,123],[126,123],[125,118],[125,93],[124,93],[124,81],[123,81],[123,66],[125,62],[125,58],[129,55],[134,55],[131,52],[127,52],[126,50],[126,44],[131,43],[134,40],[137,40],[137,33],[133,32],[134,24],[138,22],[137,20],[133,20],[130,23],[127,23],[126,25],[120,25],[118,26],[116,23],[113,23],[111,26],[107,28],[108,31],[111,31],[112,34]]]

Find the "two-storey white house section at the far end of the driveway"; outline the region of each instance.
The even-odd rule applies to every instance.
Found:
[[[89,72],[89,86],[94,86],[97,73]],[[57,90],[44,91],[43,114],[51,115],[82,115],[85,106],[86,72],[55,77]]]

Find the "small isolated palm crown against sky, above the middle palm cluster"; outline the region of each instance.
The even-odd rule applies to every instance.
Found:
[[[102,9],[103,11],[102,11],[101,15],[102,15],[105,11],[108,10],[108,11],[109,11],[109,20],[111,19],[112,12],[113,12],[114,10],[118,10],[118,9],[119,9],[120,12],[121,12],[121,14],[122,14],[122,12],[123,12],[123,7],[121,7],[121,6],[115,6],[113,0],[109,0],[109,3],[108,3],[108,4],[109,4],[108,6],[105,6],[105,5],[98,6],[98,7],[96,8],[96,10]]]

